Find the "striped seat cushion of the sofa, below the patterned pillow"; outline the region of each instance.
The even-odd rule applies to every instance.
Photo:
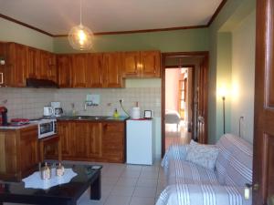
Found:
[[[169,165],[168,184],[219,184],[214,171],[193,162],[171,160]]]

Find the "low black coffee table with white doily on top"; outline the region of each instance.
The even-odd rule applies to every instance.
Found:
[[[48,190],[26,189],[22,182],[0,182],[0,205],[3,202],[26,204],[76,205],[79,197],[90,187],[90,200],[100,200],[101,166],[64,165],[78,175],[66,184]],[[92,167],[94,169],[92,169]]]

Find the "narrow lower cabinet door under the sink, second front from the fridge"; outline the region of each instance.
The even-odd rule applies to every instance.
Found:
[[[89,157],[100,158],[101,156],[101,123],[89,123],[90,137],[88,140]]]

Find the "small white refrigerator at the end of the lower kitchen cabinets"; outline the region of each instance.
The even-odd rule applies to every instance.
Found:
[[[128,164],[153,164],[155,149],[153,119],[128,119],[126,140]]]

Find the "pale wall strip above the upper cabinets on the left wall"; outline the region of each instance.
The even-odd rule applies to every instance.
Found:
[[[10,41],[27,46],[53,51],[51,36],[41,34],[35,30],[21,26],[0,17],[0,41]]]

